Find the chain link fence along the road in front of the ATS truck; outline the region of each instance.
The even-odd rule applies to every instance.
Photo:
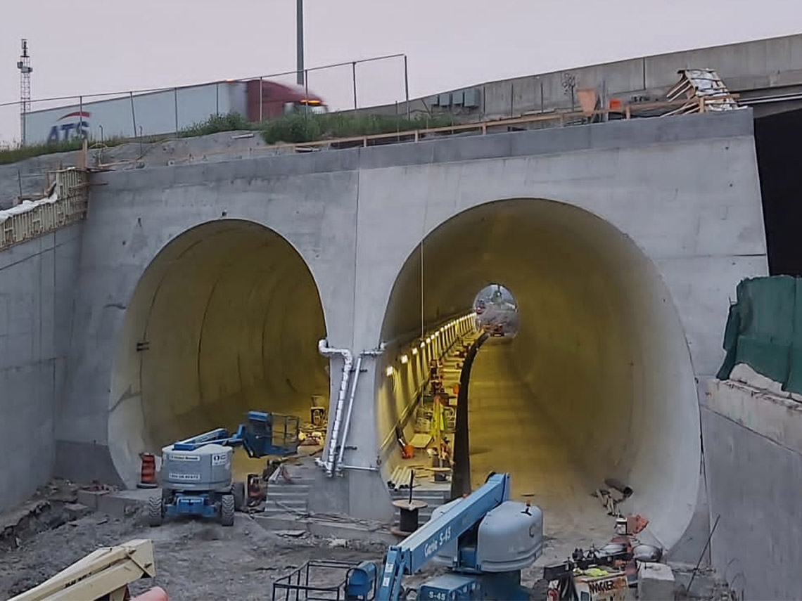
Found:
[[[407,57],[392,54],[193,86],[0,103],[0,147],[75,144],[76,140],[149,138],[253,128],[285,115],[407,106]],[[225,121],[221,121],[221,119]]]

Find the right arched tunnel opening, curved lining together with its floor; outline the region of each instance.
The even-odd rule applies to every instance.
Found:
[[[545,514],[552,535],[612,530],[592,494],[617,478],[621,509],[650,520],[664,547],[682,536],[699,485],[699,408],[687,340],[658,268],[613,225],[570,204],[499,200],[453,216],[408,257],[383,323],[377,366],[380,442],[418,398],[382,378],[395,357],[476,292],[514,292],[515,337],[490,337],[468,391],[471,483],[512,474],[512,496]],[[396,370],[409,369],[395,365]],[[403,458],[387,454],[385,477]]]

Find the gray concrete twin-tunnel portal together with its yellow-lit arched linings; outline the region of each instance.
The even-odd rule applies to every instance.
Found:
[[[530,388],[548,376],[554,391],[557,375],[571,377],[577,394],[560,401],[577,411],[622,396],[625,417],[604,413],[610,436],[580,428],[565,440],[589,434],[577,449],[619,458],[642,506],[663,506],[656,471],[674,482],[676,508],[650,518],[667,546],[682,534],[698,496],[693,377],[718,368],[735,284],[766,272],[749,111],[145,167],[95,184],[57,473],[132,482],[146,442],[233,426],[221,422],[238,422],[251,403],[300,409],[323,381],[310,345],[322,324],[331,345],[355,352],[393,341],[363,364],[348,443],[351,465],[375,469],[392,416],[410,401],[386,389],[383,372],[420,331],[415,248],[431,234],[425,327],[468,309],[499,280],[488,274],[515,276],[502,283],[522,323],[527,311],[533,320],[516,340],[516,368]],[[290,305],[286,292],[306,301]],[[253,332],[268,300],[283,316],[271,344]],[[138,341],[150,349],[137,353]],[[544,349],[550,364],[537,359]],[[341,365],[331,362],[330,392]],[[654,465],[652,437],[665,451]],[[683,444],[666,446],[672,437]],[[314,496],[327,510],[387,516],[378,471],[320,480]]]

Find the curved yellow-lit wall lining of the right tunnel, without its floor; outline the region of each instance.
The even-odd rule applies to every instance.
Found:
[[[384,339],[420,328],[420,263],[416,248],[391,292]],[[533,400],[520,419],[559,432],[587,494],[609,477],[633,486],[634,510],[670,547],[697,498],[699,414],[683,327],[651,260],[589,212],[512,199],[431,232],[423,274],[427,325],[468,310],[487,284],[512,292],[520,325],[511,356]],[[403,409],[377,402],[386,436]],[[520,441],[505,452],[525,449]]]

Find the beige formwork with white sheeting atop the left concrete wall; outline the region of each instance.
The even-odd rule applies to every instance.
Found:
[[[23,200],[15,207],[0,211],[0,251],[55,232],[86,216],[88,172],[70,167],[55,171],[53,175],[55,181],[47,188],[47,196]]]

